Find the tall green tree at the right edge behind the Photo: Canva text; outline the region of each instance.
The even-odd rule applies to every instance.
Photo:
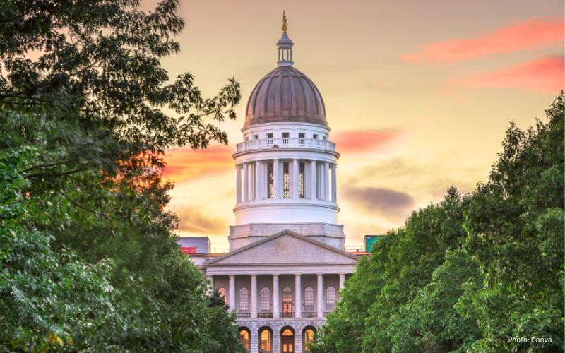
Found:
[[[467,210],[465,249],[484,281],[465,289],[458,311],[479,323],[475,351],[564,349],[564,101],[561,92],[547,124],[526,131],[511,124],[489,181]]]

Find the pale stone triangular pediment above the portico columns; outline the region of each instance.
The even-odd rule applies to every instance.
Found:
[[[206,265],[237,264],[355,264],[357,257],[341,249],[304,237],[290,230],[242,246],[235,251],[210,260]]]

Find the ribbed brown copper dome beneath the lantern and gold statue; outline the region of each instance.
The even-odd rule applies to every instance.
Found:
[[[292,66],[279,66],[255,86],[245,125],[299,122],[327,126],[326,107],[316,85]]]

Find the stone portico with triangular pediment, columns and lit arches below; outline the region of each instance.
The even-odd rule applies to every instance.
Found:
[[[280,352],[285,327],[294,330],[294,352],[302,352],[299,331],[310,335],[325,321],[356,263],[346,251],[285,230],[208,261],[206,275],[249,335],[250,352],[258,352],[266,328],[270,352]]]

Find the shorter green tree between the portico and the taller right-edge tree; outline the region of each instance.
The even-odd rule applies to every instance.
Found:
[[[342,300],[316,335],[314,352],[390,352],[388,325],[465,237],[465,203],[468,198],[450,188],[441,203],[415,211],[404,227],[377,242],[347,280]]]

